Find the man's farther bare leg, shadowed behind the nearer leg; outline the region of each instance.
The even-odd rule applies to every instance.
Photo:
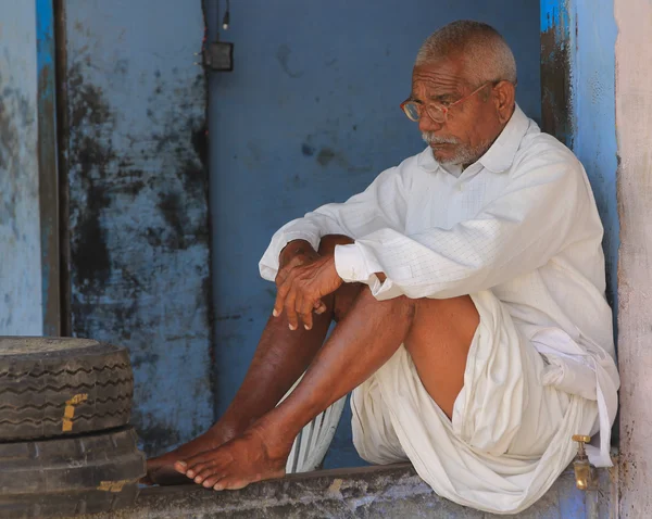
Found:
[[[333,254],[338,243],[350,243],[347,237],[327,236],[319,254]],[[360,286],[344,284],[324,301],[327,311],[314,316],[312,330],[288,329],[287,319],[269,317],[242,385],[224,416],[206,432],[175,451],[148,460],[146,483],[183,484],[188,479],[174,470],[178,459],[218,447],[240,435],[280,401],[305,371],[324,343],[333,319],[346,312],[358,295]]]

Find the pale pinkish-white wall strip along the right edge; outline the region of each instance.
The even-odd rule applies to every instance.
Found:
[[[614,0],[618,206],[620,518],[652,517],[652,3]]]

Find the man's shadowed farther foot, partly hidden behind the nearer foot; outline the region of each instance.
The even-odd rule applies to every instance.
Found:
[[[174,468],[174,463],[187,459],[197,454],[217,448],[220,445],[233,440],[238,435],[234,428],[225,427],[221,422],[215,423],[206,432],[195,440],[184,443],[179,447],[147,460],[147,476],[140,481],[145,484],[188,484],[188,478],[179,474]]]

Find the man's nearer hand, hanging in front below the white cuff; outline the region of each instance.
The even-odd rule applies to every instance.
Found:
[[[291,262],[292,260],[289,263]],[[279,270],[276,281],[278,291],[274,303],[274,316],[278,317],[285,309],[290,330],[299,327],[299,317],[304,328],[310,330],[313,325],[313,311],[321,313],[319,309],[324,306],[322,298],[335,292],[343,282],[335,268],[335,257],[318,256],[314,261],[296,265],[285,274],[279,283],[281,271],[283,269]]]

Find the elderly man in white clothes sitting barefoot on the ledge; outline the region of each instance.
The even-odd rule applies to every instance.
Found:
[[[242,387],[210,431],[150,461],[151,480],[172,464],[215,490],[281,477],[303,426],[351,391],[361,456],[410,459],[464,505],[529,506],[573,434],[600,430],[591,459],[611,464],[602,225],[580,163],[515,86],[486,24],[425,41],[401,106],[428,147],[276,232],[260,264],[276,303]]]

